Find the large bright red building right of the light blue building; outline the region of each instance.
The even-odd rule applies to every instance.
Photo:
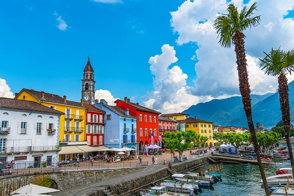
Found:
[[[139,143],[139,152],[144,153],[144,145],[151,144],[151,136],[154,131],[154,144],[159,143],[158,132],[158,117],[161,114],[158,111],[149,109],[147,107],[139,105],[139,103],[131,103],[130,99],[125,97],[125,100],[116,100],[116,106],[125,110],[129,109],[131,115],[138,118],[137,120],[137,141]]]

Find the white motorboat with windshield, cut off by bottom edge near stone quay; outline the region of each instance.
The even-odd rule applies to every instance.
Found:
[[[157,196],[157,194],[158,196],[195,196],[194,192],[190,192],[190,194],[171,192],[171,194],[168,194],[165,186],[155,186],[151,187],[151,189],[140,190],[141,196]]]

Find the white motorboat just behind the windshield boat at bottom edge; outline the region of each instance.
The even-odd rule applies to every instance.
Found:
[[[160,186],[164,186],[168,189],[168,191],[170,192],[175,192],[175,193],[185,193],[185,194],[189,194],[191,192],[196,192],[198,191],[199,187],[198,185],[192,185],[192,184],[185,184],[185,183],[179,183],[179,182],[175,182],[175,183],[160,183]],[[183,189],[183,191],[182,191]]]

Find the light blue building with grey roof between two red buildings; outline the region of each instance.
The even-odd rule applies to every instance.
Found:
[[[95,100],[95,107],[105,111],[104,146],[112,148],[128,147],[137,152],[137,118],[117,106],[110,106],[103,99]]]

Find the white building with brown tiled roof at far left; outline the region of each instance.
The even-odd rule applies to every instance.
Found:
[[[33,101],[0,97],[0,161],[58,161],[63,114]]]

